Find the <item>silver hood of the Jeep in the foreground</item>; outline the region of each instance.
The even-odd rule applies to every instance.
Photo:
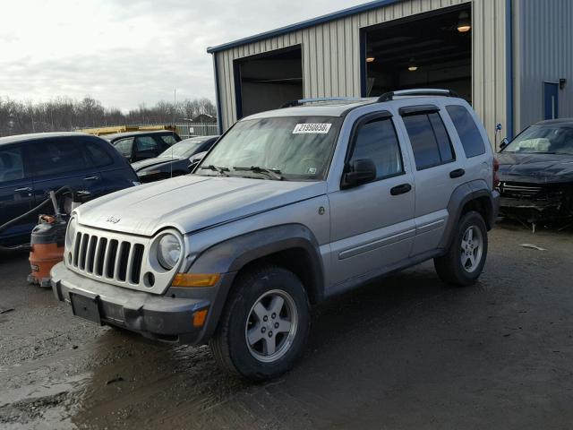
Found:
[[[173,227],[185,234],[307,200],[326,189],[325,182],[186,175],[107,194],[75,212],[90,227],[141,236]]]

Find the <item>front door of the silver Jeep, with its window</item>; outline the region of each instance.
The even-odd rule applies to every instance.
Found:
[[[347,164],[372,159],[376,179],[329,193],[333,285],[406,260],[415,236],[414,177],[392,119],[365,116],[354,135]]]

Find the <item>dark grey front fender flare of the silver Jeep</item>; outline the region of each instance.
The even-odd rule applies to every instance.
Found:
[[[203,337],[208,339],[217,328],[219,316],[238,271],[250,262],[293,249],[302,249],[308,257],[307,261],[310,262],[312,269],[305,271],[307,280],[310,280],[305,287],[308,288],[308,295],[312,301],[321,301],[325,285],[320,246],[312,231],[302,224],[284,224],[255,230],[212,245],[203,251],[192,262],[188,271],[224,274],[223,282],[212,299],[208,327]]]

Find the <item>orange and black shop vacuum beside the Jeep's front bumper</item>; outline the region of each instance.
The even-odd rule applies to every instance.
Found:
[[[50,270],[64,258],[65,228],[67,222],[47,215],[39,217],[39,224],[30,237],[30,284],[49,288]]]

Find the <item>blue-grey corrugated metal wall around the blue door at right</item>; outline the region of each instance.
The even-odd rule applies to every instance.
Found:
[[[559,91],[559,116],[573,117],[573,2],[514,0],[516,127],[543,119],[543,82],[568,83]]]

